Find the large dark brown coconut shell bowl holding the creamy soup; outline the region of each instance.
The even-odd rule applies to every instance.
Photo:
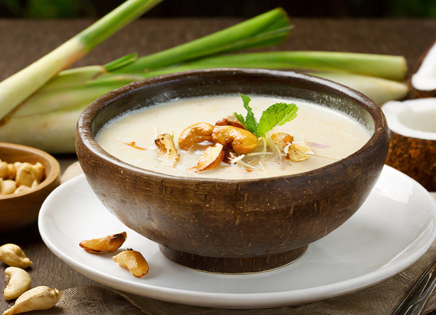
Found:
[[[236,93],[316,102],[356,118],[372,136],[354,154],[323,168],[245,180],[144,170],[105,152],[94,138],[105,123],[131,109]],[[388,145],[381,110],[361,93],[310,75],[255,69],[190,71],[134,82],[89,105],[76,131],[78,159],[102,204],[157,242],[170,260],[217,273],[267,271],[298,259],[363,204]]]

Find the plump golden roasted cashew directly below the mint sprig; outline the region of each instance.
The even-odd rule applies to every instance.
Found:
[[[233,148],[237,154],[248,154],[259,145],[255,134],[233,126],[216,126],[212,132],[212,140]]]

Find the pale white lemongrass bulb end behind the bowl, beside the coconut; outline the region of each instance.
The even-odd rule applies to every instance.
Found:
[[[359,91],[376,104],[383,105],[389,100],[403,100],[408,95],[406,84],[381,78],[357,75],[352,73],[309,73],[325,78]]]

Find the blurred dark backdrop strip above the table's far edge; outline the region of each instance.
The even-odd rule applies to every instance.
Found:
[[[0,18],[101,17],[122,0],[0,0]],[[145,17],[252,17],[281,6],[291,17],[436,18],[436,0],[165,0]]]

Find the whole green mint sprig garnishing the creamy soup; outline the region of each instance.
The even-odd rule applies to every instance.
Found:
[[[256,136],[264,137],[266,132],[272,130],[275,126],[281,126],[296,118],[298,107],[295,104],[287,104],[284,102],[276,103],[265,109],[260,117],[259,123],[253,114],[248,103],[251,98],[244,94],[239,94],[244,102],[244,107],[247,110],[246,118],[242,114],[237,114],[235,117],[239,120],[239,123],[244,126],[249,132],[253,132]]]

